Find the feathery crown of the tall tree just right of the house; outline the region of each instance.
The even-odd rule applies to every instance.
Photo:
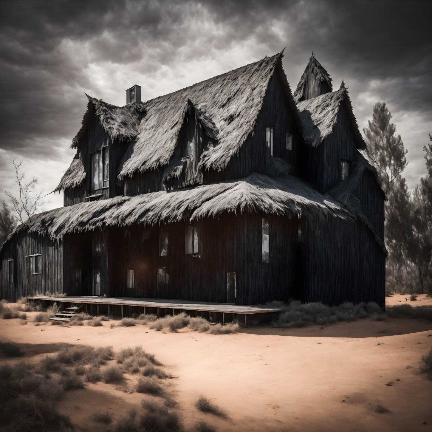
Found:
[[[389,187],[408,165],[407,152],[396,126],[390,123],[393,116],[385,102],[377,102],[372,111],[372,121],[363,128],[366,136],[366,154],[378,170],[382,188],[387,195]]]

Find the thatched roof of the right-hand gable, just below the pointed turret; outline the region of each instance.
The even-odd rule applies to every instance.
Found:
[[[353,106],[348,90],[342,81],[336,92],[325,93],[316,98],[299,102],[297,108],[303,126],[303,138],[307,144],[316,147],[332,132],[337,121],[340,107],[345,106],[349,120],[353,127],[354,139],[358,149],[365,149],[366,143],[360,133],[359,126],[353,113]]]

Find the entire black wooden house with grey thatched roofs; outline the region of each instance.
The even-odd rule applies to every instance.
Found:
[[[118,107],[88,97],[64,206],[0,251],[0,298],[36,292],[384,308],[384,193],[344,85],[283,54]]]

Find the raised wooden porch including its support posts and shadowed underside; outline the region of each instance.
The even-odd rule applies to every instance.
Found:
[[[90,314],[115,314],[121,317],[137,314],[156,314],[158,316],[175,315],[187,312],[192,316],[203,316],[209,321],[222,321],[243,319],[245,324],[248,317],[261,321],[268,314],[280,312],[281,308],[270,308],[265,305],[235,305],[234,303],[191,302],[188,300],[173,299],[140,299],[135,297],[97,297],[97,296],[70,296],[70,297],[28,297],[29,300],[60,303],[81,306],[82,311]]]

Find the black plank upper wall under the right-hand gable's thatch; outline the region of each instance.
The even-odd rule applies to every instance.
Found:
[[[342,159],[354,162],[356,143],[346,108],[340,108],[333,132],[317,147],[303,145],[300,177],[325,193],[342,180]],[[353,168],[352,166],[350,167]]]

